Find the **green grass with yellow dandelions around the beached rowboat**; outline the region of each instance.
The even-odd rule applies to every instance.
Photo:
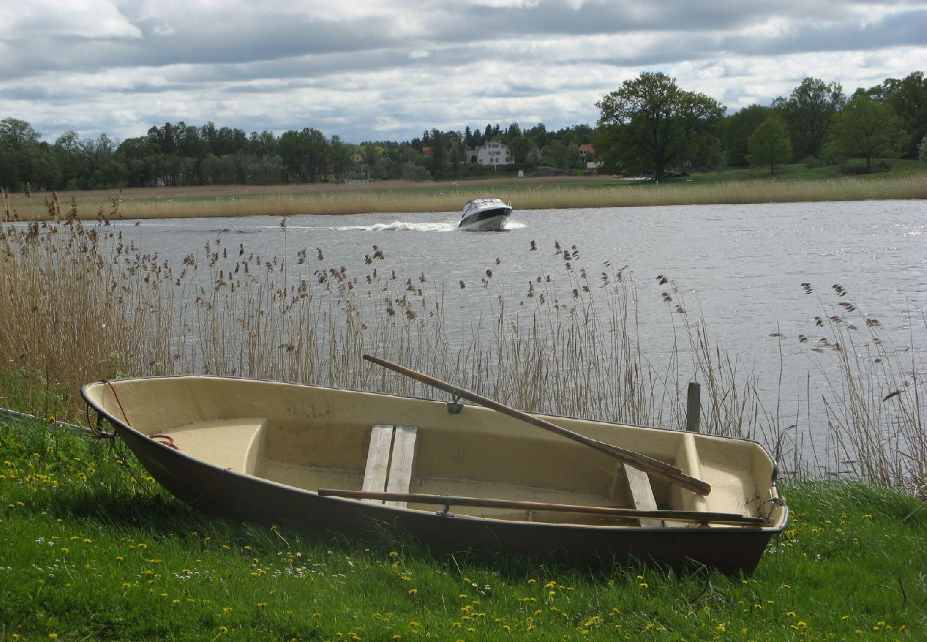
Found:
[[[2,422],[3,419],[0,419]],[[2,639],[846,639],[927,635],[927,507],[794,483],[756,573],[573,568],[215,520],[119,441],[0,424]]]

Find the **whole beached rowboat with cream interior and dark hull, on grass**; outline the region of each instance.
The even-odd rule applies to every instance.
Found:
[[[82,393],[165,489],[226,518],[727,572],[753,571],[785,528],[758,443],[521,413],[444,389],[451,401],[175,376]]]

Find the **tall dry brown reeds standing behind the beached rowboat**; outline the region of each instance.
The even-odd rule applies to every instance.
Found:
[[[576,246],[532,242],[538,276],[524,285],[506,282],[501,260],[478,282],[446,284],[404,274],[375,246],[356,273],[324,249],[266,256],[224,238],[172,265],[107,219],[84,224],[56,200],[46,213],[0,228],[0,370],[60,384],[71,400],[91,380],[178,373],[436,394],[362,360],[374,353],[528,411],[679,429],[696,380],[705,430],[765,443],[786,473],[910,494],[927,482],[921,355],[882,340],[838,289],[819,300],[827,336],[798,339],[826,386],[786,422],[781,399],[763,398],[666,278],[656,288],[674,330],[659,358],[648,353],[638,299],[652,290],[627,267],[592,270]],[[280,234],[286,248],[285,219]],[[461,297],[469,312],[449,314]],[[816,432],[819,403],[827,430]]]

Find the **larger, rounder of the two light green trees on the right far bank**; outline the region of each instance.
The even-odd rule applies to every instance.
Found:
[[[870,172],[873,157],[901,156],[908,133],[895,109],[859,94],[834,117],[832,140],[838,153],[866,159],[866,171]]]

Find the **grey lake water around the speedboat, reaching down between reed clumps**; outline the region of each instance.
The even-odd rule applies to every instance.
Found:
[[[320,266],[369,274],[365,256],[376,248],[387,258],[373,267],[388,265],[415,286],[424,276],[440,293],[447,332],[462,341],[499,296],[516,320],[527,303],[536,305],[528,299],[529,282],[549,300],[570,304],[572,289],[587,284],[589,297],[601,296],[602,273],[614,280],[624,268],[636,283],[638,329],[649,361],[659,364],[672,349],[681,305],[690,319],[704,319],[709,339],[741,369],[754,373],[768,408],[775,408],[777,391],[800,389],[820,398],[814,359],[827,355],[830,316],[856,324],[860,348],[871,339],[868,319],[885,345],[924,363],[927,201],[524,212],[514,205],[508,229],[499,233],[457,230],[458,212],[290,216],[286,227],[267,216],[115,225],[143,252],[157,251],[175,267],[191,253],[202,255],[208,242],[214,250],[221,238],[230,254],[243,245],[265,260],[285,261],[288,278],[297,283]],[[301,264],[300,250],[308,250]],[[545,278],[539,284],[539,276],[552,276],[552,283]],[[586,298],[581,294],[579,301]],[[806,379],[809,372],[815,379]],[[792,400],[784,400],[783,425],[796,412]],[[808,423],[823,419],[820,409],[806,412]]]

